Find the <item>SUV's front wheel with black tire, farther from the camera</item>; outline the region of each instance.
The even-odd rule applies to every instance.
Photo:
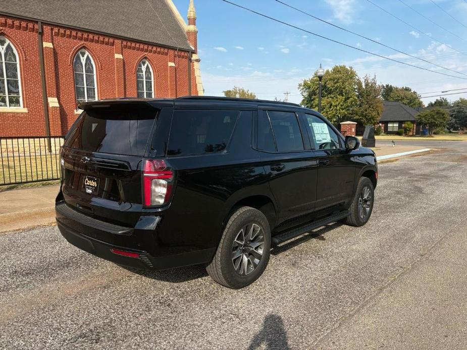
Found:
[[[364,192],[367,193],[366,189],[369,190],[371,196],[369,202],[362,198]],[[360,180],[358,181],[357,190],[349,207],[350,216],[343,220],[344,223],[356,227],[365,225],[370,219],[374,203],[375,190],[373,188],[373,183],[368,178],[360,178]],[[366,204],[366,206],[363,207],[362,204]],[[366,207],[368,207],[368,210],[366,209]],[[364,217],[361,216],[362,212],[365,213]]]

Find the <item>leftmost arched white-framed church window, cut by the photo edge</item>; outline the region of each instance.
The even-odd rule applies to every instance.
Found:
[[[0,107],[22,107],[19,72],[15,47],[0,36]]]

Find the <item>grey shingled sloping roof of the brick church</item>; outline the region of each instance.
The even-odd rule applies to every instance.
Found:
[[[9,0],[0,13],[192,50],[165,0]]]

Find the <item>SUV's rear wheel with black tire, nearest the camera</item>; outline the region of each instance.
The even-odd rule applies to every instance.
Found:
[[[255,239],[247,244],[250,229],[249,237],[254,237]],[[241,234],[242,231],[244,232],[243,236]],[[263,243],[261,243],[261,234],[263,235]],[[239,244],[242,238],[244,245]],[[260,245],[255,246],[257,244]],[[252,246],[255,246],[255,248],[248,248]],[[213,261],[207,265],[206,271],[219,284],[233,289],[243,288],[253,283],[263,274],[269,262],[270,249],[271,230],[266,216],[257,209],[241,207],[230,216],[216,255]],[[252,253],[252,250],[254,250],[254,253]],[[260,250],[261,255],[259,253]],[[241,256],[235,258],[238,254],[241,254]],[[247,257],[245,258],[246,263],[244,256]],[[257,259],[257,257],[260,257],[260,259]],[[240,262],[238,259],[240,259]],[[256,260],[259,262],[255,266]],[[240,266],[239,269],[236,269],[234,264],[238,262]]]

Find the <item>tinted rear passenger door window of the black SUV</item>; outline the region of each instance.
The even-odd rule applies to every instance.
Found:
[[[270,110],[268,114],[273,126],[277,150],[279,152],[303,150],[303,139],[295,113]]]

